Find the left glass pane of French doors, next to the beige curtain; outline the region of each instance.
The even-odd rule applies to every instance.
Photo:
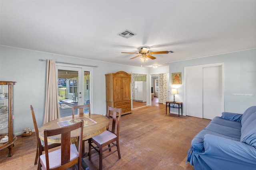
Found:
[[[78,104],[78,71],[58,69],[57,81],[60,117],[70,116]]]

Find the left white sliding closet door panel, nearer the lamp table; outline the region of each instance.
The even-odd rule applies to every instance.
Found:
[[[202,98],[202,67],[189,67],[185,69],[186,75],[186,115],[203,117]]]

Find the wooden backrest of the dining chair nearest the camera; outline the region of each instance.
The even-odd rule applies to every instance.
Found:
[[[78,144],[78,157],[70,160],[70,145],[71,145],[71,131],[80,129],[79,144]],[[54,135],[61,135],[61,166],[68,168],[78,163],[78,167],[81,167],[82,162],[82,136],[84,129],[84,121],[81,120],[73,125],[60,127],[56,129],[44,129],[44,142],[47,143],[47,137]],[[49,152],[48,145],[45,145],[45,157],[46,157],[46,169],[49,169]],[[61,167],[59,166],[59,168]],[[60,168],[63,169],[63,168]]]

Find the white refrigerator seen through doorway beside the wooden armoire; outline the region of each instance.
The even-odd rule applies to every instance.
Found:
[[[136,102],[146,102],[146,81],[135,81],[134,93],[134,100]]]

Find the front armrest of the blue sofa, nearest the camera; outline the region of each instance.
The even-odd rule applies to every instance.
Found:
[[[218,162],[222,169],[256,169],[256,148],[251,145],[207,134],[204,149],[201,157],[205,162],[212,162],[213,167]]]

